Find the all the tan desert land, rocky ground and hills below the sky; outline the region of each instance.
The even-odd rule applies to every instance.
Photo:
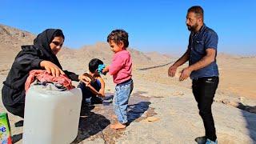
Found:
[[[0,88],[20,46],[33,43],[34,35],[0,25]],[[6,32],[7,31],[7,32]],[[12,39],[12,41],[10,40]],[[110,105],[83,107],[78,137],[73,143],[196,143],[204,134],[202,119],[191,90],[191,80],[178,81],[167,70],[178,57],[143,53],[130,49],[133,58],[134,90],[129,103],[130,125],[125,130],[111,130],[114,114]],[[112,52],[105,42],[79,50],[63,48],[58,54],[64,70],[82,74],[91,58],[110,64]],[[218,55],[220,83],[212,111],[219,143],[256,143],[256,57]],[[168,64],[168,65],[166,65]],[[178,71],[187,66],[181,66]],[[102,76],[106,94],[114,93],[110,75]],[[76,86],[78,82],[74,82]],[[2,97],[2,95],[1,95]],[[2,101],[0,112],[6,112]],[[15,142],[22,143],[22,120],[9,114]]]

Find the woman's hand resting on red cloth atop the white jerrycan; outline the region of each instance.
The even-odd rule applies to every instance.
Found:
[[[40,62],[40,66],[46,69],[46,71],[54,77],[59,77],[60,74],[65,74],[58,66],[50,61],[42,61]]]

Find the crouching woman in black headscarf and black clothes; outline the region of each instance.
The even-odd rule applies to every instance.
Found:
[[[84,75],[78,76],[72,72],[62,70],[56,54],[61,50],[64,42],[62,30],[47,29],[34,39],[34,45],[22,46],[16,56],[10,72],[3,82],[2,103],[10,113],[24,118],[25,82],[30,70],[47,70],[54,77],[66,74],[71,80],[90,82]]]

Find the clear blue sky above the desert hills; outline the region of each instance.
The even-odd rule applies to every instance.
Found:
[[[111,30],[124,29],[130,47],[182,54],[190,33],[186,10],[194,5],[202,6],[206,26],[217,32],[219,52],[256,54],[254,0],[1,0],[0,23],[34,34],[60,28],[70,48],[106,42]]]

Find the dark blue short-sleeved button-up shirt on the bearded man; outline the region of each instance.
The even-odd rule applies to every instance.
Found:
[[[190,41],[188,49],[190,49],[189,65],[198,62],[206,56],[206,49],[216,50],[215,60],[210,65],[199,70],[194,70],[190,74],[191,79],[218,76],[218,66],[216,63],[218,35],[205,24],[198,33],[190,33]]]

